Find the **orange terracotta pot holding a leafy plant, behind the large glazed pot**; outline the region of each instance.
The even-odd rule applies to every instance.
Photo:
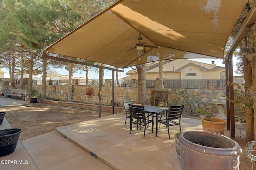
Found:
[[[218,118],[212,118],[212,120],[213,121],[208,121],[208,117],[201,118],[203,131],[224,135],[225,125],[227,121]]]

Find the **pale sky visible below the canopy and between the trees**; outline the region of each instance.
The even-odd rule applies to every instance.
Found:
[[[225,67],[225,64],[222,64],[223,59],[190,59],[193,61],[198,61],[198,62],[202,62],[202,63],[207,63],[207,64],[212,64],[212,61],[214,61],[214,64],[216,64],[217,66],[222,66]],[[236,70],[236,63],[238,62],[238,60],[236,59],[236,57],[233,57],[233,71]],[[136,68],[135,66],[133,68]],[[126,75],[126,72],[128,72],[129,70],[131,70],[132,68],[125,68],[124,72],[119,72],[118,73],[118,78],[124,78],[128,75]],[[8,73],[9,70],[6,68],[2,68],[2,71]],[[66,70],[65,68],[58,68],[56,69],[56,71],[58,72],[58,74],[62,74],[62,75],[68,75],[68,70]],[[234,76],[237,76],[238,74],[236,74],[235,72],[233,73]],[[73,74],[73,77],[85,77],[85,72],[82,72],[82,74],[80,74],[79,72],[76,72]],[[89,79],[99,79],[99,74],[95,73],[95,72],[89,72]],[[112,78],[112,71],[111,70],[104,70],[104,78],[105,79],[111,79]],[[115,75],[115,79],[116,79],[116,75]]]

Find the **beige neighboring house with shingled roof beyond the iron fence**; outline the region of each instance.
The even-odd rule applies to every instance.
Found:
[[[164,61],[164,79],[165,80],[219,80],[224,75],[225,68],[216,66],[216,64],[206,64],[186,59],[176,59],[173,61]],[[132,69],[126,73],[128,76],[123,80],[138,80],[137,71]],[[159,78],[159,63],[148,66],[146,71],[147,80],[156,80]]]

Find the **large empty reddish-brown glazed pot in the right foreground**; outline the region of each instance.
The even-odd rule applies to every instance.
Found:
[[[228,137],[187,131],[181,133],[179,141],[182,170],[239,170],[242,149]]]

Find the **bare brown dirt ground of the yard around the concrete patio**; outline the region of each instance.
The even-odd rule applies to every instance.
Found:
[[[0,109],[1,111],[6,111],[5,117],[12,128],[22,129],[20,141],[54,131],[56,127],[98,118],[98,110],[56,106],[44,103],[18,107],[1,107]],[[102,117],[111,114],[110,112],[102,112]],[[188,113],[186,113],[184,117],[199,119],[199,117],[194,117]],[[245,137],[236,137],[236,139],[233,140],[235,140],[243,150],[242,154],[240,154],[240,170],[252,169],[251,160],[246,156],[244,151],[248,141]],[[254,170],[256,170],[256,164],[253,166]]]

